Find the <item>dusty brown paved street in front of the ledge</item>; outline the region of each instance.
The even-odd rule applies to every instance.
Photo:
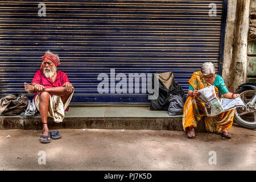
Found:
[[[0,170],[256,170],[255,130],[237,126],[232,139],[209,133],[188,139],[167,130],[72,130],[59,130],[63,137],[48,144],[39,142],[40,130],[0,130]],[[39,164],[42,154],[46,164]]]

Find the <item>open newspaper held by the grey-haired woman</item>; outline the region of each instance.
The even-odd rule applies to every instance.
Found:
[[[205,103],[205,112],[207,113],[207,116],[218,115],[223,111],[228,111],[236,107],[245,107],[245,103],[240,97],[237,97],[236,99],[222,98],[219,100],[213,85],[198,90],[198,92],[200,93],[199,99]]]

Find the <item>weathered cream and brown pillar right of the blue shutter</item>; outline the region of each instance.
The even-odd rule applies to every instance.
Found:
[[[228,1],[222,77],[230,92],[247,78],[247,36],[250,1]]]

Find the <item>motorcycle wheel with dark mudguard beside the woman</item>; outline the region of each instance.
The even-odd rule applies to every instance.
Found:
[[[250,88],[241,88],[236,93],[239,93],[243,102],[247,104],[253,98],[254,94],[256,94],[256,91]],[[238,125],[246,129],[256,128],[256,111],[247,111],[245,107],[236,107],[234,119]]]

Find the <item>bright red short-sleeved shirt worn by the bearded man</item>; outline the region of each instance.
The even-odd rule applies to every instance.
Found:
[[[55,81],[52,82],[51,79],[47,78],[44,75],[44,73],[42,72],[42,70],[39,69],[39,71],[37,71],[35,73],[35,76],[34,76],[33,80],[31,81],[31,83],[32,82],[43,85],[44,87],[47,88],[47,87],[62,86],[65,82],[69,82],[69,80],[68,80],[68,76],[66,75],[66,73],[57,71],[57,76],[55,78]],[[37,96],[38,94],[39,94],[39,92],[36,92],[35,96]],[[51,96],[53,96],[53,95],[51,95]],[[35,97],[34,97],[34,99],[35,99]]]

